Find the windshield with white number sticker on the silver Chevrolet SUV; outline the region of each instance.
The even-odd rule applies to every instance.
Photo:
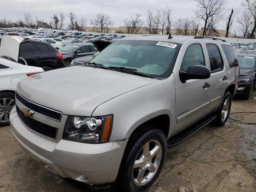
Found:
[[[122,40],[110,44],[91,62],[106,67],[125,67],[152,77],[167,78],[179,44],[158,41]]]

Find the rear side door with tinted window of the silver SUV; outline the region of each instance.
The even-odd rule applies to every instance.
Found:
[[[205,44],[207,50],[207,61],[211,67],[211,95],[210,109],[216,110],[221,102],[221,98],[226,88],[228,77],[225,73],[225,65],[220,48],[216,44]]]

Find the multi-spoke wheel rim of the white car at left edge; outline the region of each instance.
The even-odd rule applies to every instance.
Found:
[[[0,99],[0,122],[8,122],[12,108],[14,107],[15,101],[12,98]]]

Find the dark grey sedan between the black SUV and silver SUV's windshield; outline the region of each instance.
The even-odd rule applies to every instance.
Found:
[[[72,43],[59,49],[66,67],[70,66],[74,58],[93,55],[97,51],[97,48],[91,43]]]

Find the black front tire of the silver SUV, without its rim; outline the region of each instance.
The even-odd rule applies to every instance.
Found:
[[[124,156],[122,158],[122,163],[120,165],[120,169],[118,173],[118,185],[120,185],[120,187],[126,192],[139,192],[139,191],[146,190],[158,177],[166,158],[167,141],[164,133],[161,130],[158,130],[154,127],[145,127],[144,130],[140,132],[136,137],[134,138],[130,137],[130,139],[132,139],[132,141],[128,142],[128,146],[126,147]],[[134,162],[140,155],[140,152],[142,152],[141,151],[142,147],[146,145],[146,143],[148,142],[151,143],[154,141],[157,141],[162,147],[161,148],[162,152],[159,154],[156,154],[154,157],[155,159],[152,158],[152,160],[150,161],[150,162],[154,161],[155,163],[156,158],[158,158],[158,168],[156,168],[156,171],[154,172],[154,174],[150,176],[149,180],[146,181],[145,184],[137,185],[134,182],[134,170],[136,172],[136,168],[133,169]],[[140,168],[141,167],[138,167],[137,169],[140,169]]]

